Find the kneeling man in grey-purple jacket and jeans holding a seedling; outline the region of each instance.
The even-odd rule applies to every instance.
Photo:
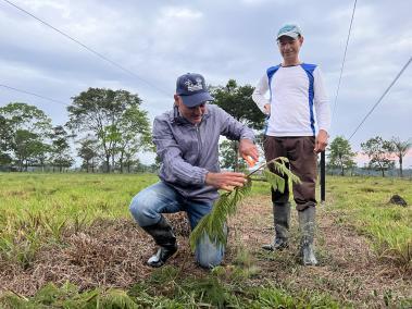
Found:
[[[137,194],[130,203],[136,222],[159,246],[148,260],[161,267],[177,250],[172,226],[162,213],[186,211],[191,230],[208,214],[217,189],[233,190],[246,183],[244,173],[220,172],[219,138],[240,140],[239,152],[258,160],[253,132],[224,110],[209,104],[204,78],[187,73],[177,78],[174,108],[154,119],[153,141],[161,159],[160,182]],[[224,248],[205,235],[195,251],[204,268],[223,260]]]

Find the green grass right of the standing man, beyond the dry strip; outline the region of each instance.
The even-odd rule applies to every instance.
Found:
[[[327,210],[336,222],[353,226],[371,239],[371,246],[386,260],[412,269],[412,182],[382,177],[327,177],[332,202]],[[395,194],[408,207],[388,203]]]

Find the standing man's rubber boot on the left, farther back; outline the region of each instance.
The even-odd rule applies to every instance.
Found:
[[[273,217],[275,239],[273,244],[263,245],[262,248],[270,251],[283,250],[289,247],[290,202],[273,203]]]

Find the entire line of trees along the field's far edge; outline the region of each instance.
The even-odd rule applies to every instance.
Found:
[[[210,86],[220,106],[236,120],[262,131],[265,116],[251,99],[253,87],[239,86],[229,79],[225,86]],[[27,171],[35,166],[45,170],[64,171],[73,166],[74,151],[82,160],[82,170],[87,172],[143,170],[138,159],[142,151],[153,151],[151,127],[147,111],[141,109],[137,94],[126,90],[88,88],[72,98],[67,107],[68,121],[53,126],[51,119],[37,107],[11,102],[0,108],[0,168],[11,171]],[[258,144],[263,136],[258,134]],[[367,156],[367,168],[385,172],[398,161],[402,176],[403,158],[412,143],[398,137],[385,140],[380,136],[361,144],[361,153]],[[220,145],[221,165],[239,171],[246,169],[238,156],[238,143],[223,140]],[[353,170],[357,153],[349,140],[336,137],[327,148],[327,168],[338,169],[341,175]],[[150,166],[154,170],[159,160]],[[147,168],[147,166],[146,166]]]

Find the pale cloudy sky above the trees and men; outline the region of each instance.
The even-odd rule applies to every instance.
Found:
[[[12,0],[115,65],[0,0],[0,106],[26,102],[54,125],[67,121],[71,98],[89,87],[138,94],[150,121],[173,106],[176,77],[201,73],[213,86],[234,78],[254,86],[282,62],[275,35],[298,23],[300,60],[320,65],[333,113],[330,140],[349,138],[412,55],[412,1]],[[123,67],[124,70],[120,69]],[[412,138],[412,65],[350,139]],[[153,154],[142,154],[151,163]],[[360,156],[360,164],[364,159]],[[362,161],[363,160],[363,161]],[[412,153],[403,168],[412,168]]]

